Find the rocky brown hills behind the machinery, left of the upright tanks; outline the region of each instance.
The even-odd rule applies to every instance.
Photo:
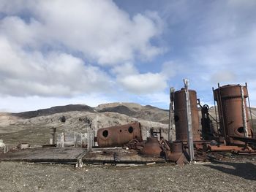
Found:
[[[152,106],[133,103],[100,104],[98,107],[67,105],[45,110],[19,113],[0,113],[0,138],[7,145],[28,142],[31,145],[48,144],[50,128],[57,133],[63,131],[87,132],[88,128],[123,125],[139,121],[142,124],[143,138],[150,128],[163,130],[167,138],[168,111]],[[174,132],[173,132],[174,135]]]

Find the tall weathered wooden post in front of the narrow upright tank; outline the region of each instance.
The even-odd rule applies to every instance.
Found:
[[[195,161],[194,143],[193,143],[193,131],[192,131],[192,113],[191,104],[189,98],[189,80],[184,79],[185,96],[186,96],[186,108],[187,108],[187,145],[189,147],[189,161],[191,164]]]

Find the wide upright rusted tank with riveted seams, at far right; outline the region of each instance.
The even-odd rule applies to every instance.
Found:
[[[248,110],[246,106],[248,91],[245,86],[243,86],[243,90],[248,136],[252,137],[252,128],[249,123]],[[217,101],[218,104],[219,123],[222,137],[225,137],[227,144],[243,144],[244,142],[232,138],[244,137],[241,85],[224,85],[215,89],[214,100]]]

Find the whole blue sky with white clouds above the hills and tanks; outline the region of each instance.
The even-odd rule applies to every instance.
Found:
[[[167,109],[183,79],[205,104],[242,84],[256,107],[254,0],[0,0],[0,111],[135,102]]]

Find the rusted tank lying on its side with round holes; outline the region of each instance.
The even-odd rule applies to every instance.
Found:
[[[97,142],[99,147],[121,147],[132,139],[142,141],[140,123],[130,123],[124,126],[99,128]]]

